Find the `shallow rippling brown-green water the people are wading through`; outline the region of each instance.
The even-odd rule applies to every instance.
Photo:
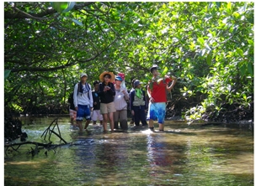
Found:
[[[49,142],[41,135],[54,119],[22,118],[27,141]],[[89,125],[90,134],[78,134],[68,117],[59,118],[58,126],[72,145],[42,149],[34,157],[26,152],[35,145],[8,152],[6,185],[253,185],[250,128],[167,121],[165,132],[141,127],[103,133]],[[54,134],[51,141],[60,144]]]

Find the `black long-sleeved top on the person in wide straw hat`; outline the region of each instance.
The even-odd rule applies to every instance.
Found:
[[[104,86],[109,86],[110,89],[107,91],[104,91]],[[108,85],[105,85],[104,82],[99,83],[99,92],[98,95],[100,97],[101,103],[110,103],[114,101],[115,97],[115,86],[113,83],[108,83]]]

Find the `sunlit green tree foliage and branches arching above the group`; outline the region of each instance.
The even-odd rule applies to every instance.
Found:
[[[81,72],[91,84],[104,70],[124,72],[131,88],[157,64],[179,77],[177,100],[196,100],[179,112],[187,120],[234,103],[252,109],[254,3],[62,5],[4,3],[5,106],[65,111]]]

